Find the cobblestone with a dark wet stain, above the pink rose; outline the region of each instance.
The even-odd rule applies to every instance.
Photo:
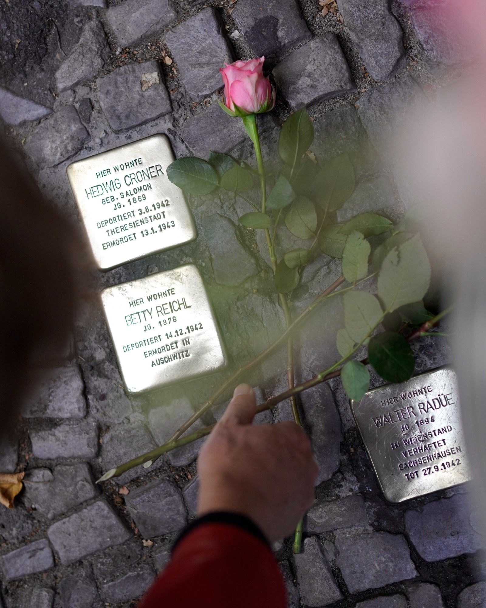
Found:
[[[258,57],[273,59],[312,36],[295,0],[239,0],[231,16]]]

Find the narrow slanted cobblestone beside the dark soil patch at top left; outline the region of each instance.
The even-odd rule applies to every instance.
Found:
[[[78,44],[56,72],[58,91],[72,89],[84,80],[92,80],[108,60],[109,54],[103,27],[99,21],[90,21],[84,26]]]

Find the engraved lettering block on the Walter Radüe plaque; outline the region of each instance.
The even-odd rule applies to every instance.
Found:
[[[423,396],[423,400],[415,404],[397,407],[397,409],[388,410],[385,413],[372,417],[372,421],[377,428],[398,424],[402,434],[405,434],[414,427],[416,427],[416,430],[419,430],[417,434],[402,437],[401,440],[391,441],[390,443],[391,449],[400,450],[403,458],[412,458],[412,460],[404,460],[399,463],[400,471],[430,463],[434,464],[434,471],[436,472],[439,471],[439,467],[445,470],[451,466],[460,465],[460,458],[453,458],[451,461],[445,461],[440,463],[440,465],[437,464],[443,458],[462,454],[462,447],[460,445],[447,446],[447,437],[445,436],[453,431],[451,424],[430,428],[436,421],[434,413],[437,410],[456,404],[453,393],[438,393],[436,396],[433,396],[431,394],[433,390],[432,385],[429,384],[419,389],[400,393],[399,396],[383,399],[382,406],[386,407],[409,401],[409,399],[414,397]],[[425,469],[425,471],[428,471],[428,469]],[[424,474],[427,474],[427,472]],[[412,475],[414,475],[414,472],[405,474],[407,478],[411,478]]]

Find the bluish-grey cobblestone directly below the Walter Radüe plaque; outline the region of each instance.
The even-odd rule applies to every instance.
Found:
[[[468,501],[467,494],[456,494],[406,511],[406,531],[423,559],[434,562],[484,548],[484,537],[471,527]]]

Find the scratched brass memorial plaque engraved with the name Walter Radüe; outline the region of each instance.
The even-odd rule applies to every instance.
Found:
[[[389,502],[471,479],[456,374],[439,368],[370,390],[351,409]]]

